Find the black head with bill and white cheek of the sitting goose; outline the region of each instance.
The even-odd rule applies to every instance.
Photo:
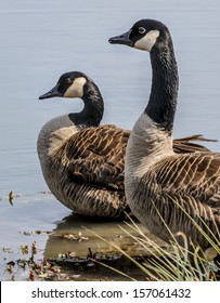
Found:
[[[56,85],[39,96],[39,100],[60,97],[83,97],[87,90],[87,84],[90,79],[81,71],[70,71],[63,74]]]

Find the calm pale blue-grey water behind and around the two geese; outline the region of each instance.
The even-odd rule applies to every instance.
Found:
[[[180,92],[174,136],[202,133],[220,140],[220,3],[219,1],[156,0],[8,0],[0,3],[1,110],[0,110],[0,279],[9,278],[5,263],[20,259],[21,245],[37,241],[39,259],[48,250],[53,230],[68,222],[72,212],[61,206],[42,179],[36,141],[46,121],[79,111],[80,100],[39,102],[65,71],[81,70],[99,84],[105,100],[103,123],[131,129],[145,106],[150,85],[148,54],[111,45],[109,37],[124,32],[138,19],[157,18],[170,28],[179,65]],[[219,143],[207,144],[220,150]],[[13,207],[8,195],[17,196]],[[73,228],[86,224],[72,218]],[[76,223],[77,222],[77,223]],[[90,222],[86,224],[88,228]],[[73,227],[74,226],[74,227]],[[117,237],[116,223],[93,227]],[[93,243],[100,245],[93,239]],[[91,245],[91,243],[90,243]],[[77,245],[80,251],[81,243]],[[46,249],[47,248],[47,249]],[[85,246],[86,250],[87,246]],[[66,248],[67,249],[67,248]],[[83,250],[83,253],[85,253]],[[26,279],[20,274],[17,279]]]

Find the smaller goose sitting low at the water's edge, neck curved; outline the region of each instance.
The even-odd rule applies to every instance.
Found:
[[[63,74],[56,85],[39,98],[52,97],[79,97],[83,109],[53,118],[39,133],[38,156],[49,189],[75,213],[124,216],[125,210],[129,212],[124,163],[130,131],[100,126],[104,111],[102,94],[81,71]],[[200,135],[177,140],[176,152],[206,150],[191,142],[203,140]]]

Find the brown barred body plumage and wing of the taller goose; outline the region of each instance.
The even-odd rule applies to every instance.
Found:
[[[220,241],[220,154],[166,157],[133,185],[130,207],[158,237],[170,241],[172,236],[168,229],[173,235],[184,233],[194,245],[206,249],[210,243],[194,220],[212,240]],[[178,240],[183,245],[182,238]]]

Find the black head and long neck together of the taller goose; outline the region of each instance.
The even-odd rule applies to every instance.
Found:
[[[112,44],[147,51],[152,64],[152,88],[144,116],[159,129],[172,133],[178,97],[178,66],[169,29],[159,21],[138,21],[127,32],[112,37]]]

